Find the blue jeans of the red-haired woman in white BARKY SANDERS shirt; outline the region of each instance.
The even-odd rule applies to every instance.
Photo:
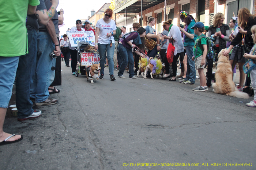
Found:
[[[100,64],[101,64],[101,74],[104,75],[104,62],[106,60],[106,52],[107,58],[109,62],[109,75],[114,75],[114,51],[115,51],[115,44],[110,47],[110,44],[98,44],[99,47],[99,57],[100,57]],[[107,50],[106,50],[107,48]],[[106,51],[106,52],[105,52]]]

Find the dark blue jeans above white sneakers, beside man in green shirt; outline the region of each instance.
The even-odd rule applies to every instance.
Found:
[[[30,100],[30,84],[35,74],[35,64],[37,58],[37,31],[27,30],[29,43],[29,54],[20,56],[17,69],[16,80],[16,106],[18,118],[26,118],[33,113],[33,102]]]

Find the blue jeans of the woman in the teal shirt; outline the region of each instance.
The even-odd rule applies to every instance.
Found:
[[[191,83],[195,83],[196,80],[195,61],[192,61],[192,57],[194,55],[193,47],[194,46],[185,46],[187,51],[187,74],[184,80],[189,80]]]

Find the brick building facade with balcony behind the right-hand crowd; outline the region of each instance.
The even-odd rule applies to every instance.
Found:
[[[239,4],[239,8],[241,7],[247,7],[249,4],[249,7],[247,7],[251,13],[256,13],[256,0],[167,0],[166,1],[166,7],[170,8],[169,15],[166,15],[166,20],[169,18],[173,19],[174,25],[179,25],[181,23],[180,20],[180,11],[184,10],[189,11],[189,14],[192,15],[196,21],[202,21],[204,25],[210,26],[210,16],[214,16],[215,13],[221,12],[225,16],[225,23],[229,23],[229,19],[227,19],[230,16],[230,13],[233,11],[238,11],[238,9],[233,10],[231,5],[228,7],[227,4],[230,2],[236,2]],[[244,3],[241,3],[241,1],[245,1]],[[246,6],[247,3],[247,6]],[[117,4],[116,4],[117,6]],[[236,8],[237,8],[236,6]],[[148,18],[154,17],[158,22],[155,24],[155,29],[157,31],[162,30],[162,23],[164,22],[164,2],[159,3],[157,5],[154,5],[153,7],[147,8],[143,13],[143,27],[146,27],[148,24]],[[188,9],[188,10],[186,10]],[[115,11],[114,11],[115,13]],[[161,13],[161,15],[159,15]],[[118,13],[117,13],[118,14]],[[136,15],[137,18],[141,17],[141,12],[139,13],[127,13],[127,15]],[[237,13],[235,13],[237,15]],[[158,17],[161,17],[159,20]],[[117,26],[123,26],[124,22],[121,23],[121,25],[118,25],[118,16],[116,16],[117,19]],[[130,18],[129,18],[130,19]],[[132,21],[132,19],[130,19]],[[127,30],[131,29],[131,21],[129,21],[129,26],[127,26]],[[161,28],[161,29],[160,29]]]

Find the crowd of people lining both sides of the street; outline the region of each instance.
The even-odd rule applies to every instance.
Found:
[[[61,52],[67,67],[69,67],[71,56],[72,75],[75,75],[78,63],[77,50],[71,46],[66,34],[63,35],[63,40],[59,41],[58,25],[63,23],[64,11],[61,9],[59,14],[57,13],[58,4],[59,0],[29,0],[27,4],[19,1],[0,3],[5,10],[0,16],[0,22],[5,23],[0,25],[0,29],[4,30],[3,35],[5,35],[0,43],[0,145],[22,140],[21,135],[11,135],[3,131],[5,114],[15,77],[18,120],[23,121],[37,118],[42,114],[39,110],[33,110],[33,102],[36,106],[51,105],[58,102],[57,99],[49,98],[49,96],[60,92],[54,86],[61,85]],[[26,8],[25,11],[27,12],[21,10],[21,6]],[[75,22],[76,27],[71,28],[71,31],[94,32],[94,49],[99,51],[100,56],[99,79],[103,79],[106,59],[108,60],[110,80],[116,80],[114,70],[119,70],[118,77],[125,78],[123,74],[127,67],[129,68],[129,78],[137,79],[134,76],[134,65],[135,72],[137,72],[139,58],[154,58],[159,52],[166,69],[162,80],[176,81],[176,62],[180,57],[182,74],[178,76],[179,82],[194,85],[196,70],[198,70],[200,86],[192,90],[207,91],[208,87],[211,87],[211,80],[213,79],[214,60],[218,60],[219,51],[227,48],[223,55],[230,54],[230,63],[234,71],[235,65],[238,63],[240,71],[238,90],[245,92],[254,90],[255,94],[256,68],[253,68],[248,76],[242,70],[246,59],[252,59],[254,62],[256,59],[256,46],[254,45],[256,16],[252,15],[247,8],[241,8],[238,11],[238,17],[232,17],[229,25],[223,23],[224,15],[217,13],[214,16],[213,25],[210,27],[196,22],[188,12],[181,11],[180,19],[185,25],[173,25],[173,20],[169,19],[163,23],[162,33],[157,33],[154,29],[156,22],[154,17],[149,18],[149,24],[146,28],[140,27],[139,23],[133,23],[133,31],[127,33],[124,26],[116,27],[116,21],[111,19],[112,9],[106,9],[104,14],[104,17],[97,21],[95,31],[90,26],[89,20],[85,20],[82,24],[82,21],[78,19]],[[3,20],[3,18],[7,18],[7,20]],[[18,20],[14,20],[14,18]],[[20,26],[25,25],[25,23],[26,27]],[[232,28],[231,33],[229,32],[230,28]],[[26,32],[28,44],[25,43]],[[207,37],[214,42],[214,49],[211,50],[215,58],[206,57],[208,52]],[[18,46],[13,45],[14,40],[16,44],[19,44]],[[146,40],[155,41],[155,45],[152,48],[148,47]],[[175,47],[172,63],[167,60],[170,43]],[[14,47],[15,50],[10,50]],[[203,72],[206,65],[208,67],[207,80]],[[170,66],[172,66],[172,73]],[[245,77],[246,83],[243,87]],[[250,87],[251,84],[252,88]],[[256,107],[256,96],[246,105]]]

